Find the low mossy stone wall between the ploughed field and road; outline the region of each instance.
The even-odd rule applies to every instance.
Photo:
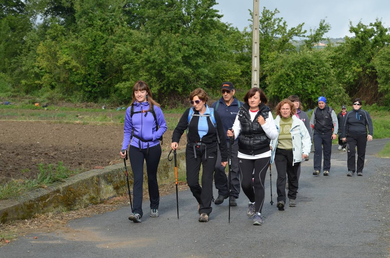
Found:
[[[173,156],[173,153],[171,154]],[[174,160],[167,160],[168,152],[161,154],[158,166],[159,185],[175,182]],[[133,184],[133,173],[126,161],[129,183]],[[185,150],[177,151],[178,173],[185,175]],[[144,165],[144,188],[147,188],[146,165]],[[132,186],[130,186],[132,190]],[[124,164],[119,163],[83,172],[47,188],[38,188],[20,197],[0,201],[0,222],[28,219],[37,213],[60,212],[101,203],[127,192]]]

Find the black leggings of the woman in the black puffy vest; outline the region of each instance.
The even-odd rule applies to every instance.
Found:
[[[241,175],[241,188],[250,202],[255,202],[255,212],[261,213],[264,204],[264,181],[271,157],[249,160],[238,158]],[[255,169],[254,181],[252,172]]]

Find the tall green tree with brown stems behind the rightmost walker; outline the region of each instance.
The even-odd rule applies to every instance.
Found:
[[[362,98],[367,104],[381,100],[377,72],[372,62],[378,51],[390,44],[389,29],[382,21],[364,25],[361,21],[353,26],[349,24],[349,32],[355,37],[346,37],[345,43],[335,47],[332,55],[332,67],[339,81],[351,98]]]

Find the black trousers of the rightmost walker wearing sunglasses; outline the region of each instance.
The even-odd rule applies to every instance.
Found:
[[[363,172],[364,167],[364,158],[365,158],[365,150],[367,147],[367,134],[347,134],[347,144],[348,144],[348,160],[347,167],[348,171],[356,171]],[[355,164],[355,147],[358,147],[358,160]]]

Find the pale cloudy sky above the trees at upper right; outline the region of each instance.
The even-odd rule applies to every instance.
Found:
[[[218,5],[214,8],[223,14],[222,21],[232,23],[233,26],[243,30],[249,26],[251,17],[248,9],[253,9],[253,0],[216,0]],[[382,19],[385,27],[390,27],[390,0],[260,0],[260,12],[263,7],[280,13],[290,27],[305,23],[304,29],[317,28],[320,19],[325,19],[332,28],[325,37],[340,38],[352,36],[349,33],[349,21],[356,24],[369,25],[378,17]],[[307,33],[308,34],[308,33]]]

